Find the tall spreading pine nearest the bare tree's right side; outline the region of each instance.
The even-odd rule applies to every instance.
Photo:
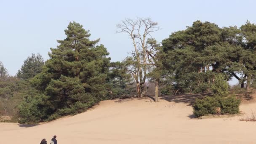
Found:
[[[219,62],[208,61],[203,53],[208,46],[221,43],[221,29],[208,21],[195,21],[187,29],[173,32],[162,41],[163,65],[167,86],[173,94],[205,92],[210,87],[212,72],[219,72]],[[213,67],[210,71],[209,67]]]

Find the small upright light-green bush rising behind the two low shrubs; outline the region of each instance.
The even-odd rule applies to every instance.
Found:
[[[218,74],[215,76],[215,81],[212,84],[211,89],[216,96],[227,96],[229,84],[222,74]]]

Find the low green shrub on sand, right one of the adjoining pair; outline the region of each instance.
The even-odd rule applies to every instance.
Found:
[[[237,114],[239,112],[240,99],[236,99],[235,96],[229,96],[222,98],[221,114]]]

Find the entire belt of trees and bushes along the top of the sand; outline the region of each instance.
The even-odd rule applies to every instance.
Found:
[[[48,60],[32,53],[15,76],[0,62],[3,122],[47,122],[85,112],[102,100],[151,95],[157,102],[160,95],[181,93],[209,93],[196,99],[196,117],[235,114],[240,100],[229,93],[227,82],[237,79],[247,92],[256,87],[256,25],[250,21],[241,27],[195,21],[157,41],[152,37],[160,30],[157,22],[124,19],[116,35],[126,35],[133,51],[123,61],[111,61],[100,39],[91,40],[86,29],[70,22]]]

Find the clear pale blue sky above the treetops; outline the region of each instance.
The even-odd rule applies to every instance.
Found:
[[[47,60],[70,21],[90,30],[91,40],[100,38],[112,61],[121,61],[133,50],[128,35],[116,33],[125,18],[152,18],[161,28],[152,36],[161,42],[197,20],[219,27],[256,23],[255,5],[254,0],[0,0],[0,61],[15,75],[31,53]]]

